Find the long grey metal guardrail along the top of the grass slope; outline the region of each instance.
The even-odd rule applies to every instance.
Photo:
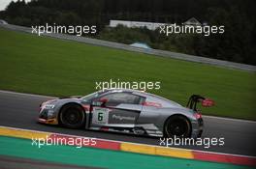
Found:
[[[32,29],[30,27],[17,26],[17,25],[12,25],[12,24],[0,24],[0,27],[7,28],[10,30],[14,30],[14,31],[19,31],[19,32],[26,32],[26,33],[30,33],[30,34],[32,32]],[[84,42],[84,43],[89,43],[89,44],[93,44],[93,45],[101,45],[101,46],[107,46],[107,47],[112,47],[112,48],[117,48],[117,49],[128,50],[128,51],[141,52],[141,53],[146,53],[146,54],[160,56],[160,57],[167,57],[167,58],[173,58],[173,59],[178,59],[178,60],[208,64],[208,65],[213,65],[213,66],[217,66],[217,67],[236,69],[236,70],[256,71],[256,66],[252,66],[252,65],[245,65],[245,64],[234,63],[234,62],[229,62],[229,61],[222,61],[222,60],[211,59],[211,58],[206,58],[206,57],[201,57],[201,56],[176,53],[176,52],[171,52],[171,51],[166,51],[166,50],[139,48],[139,47],[134,47],[129,44],[123,44],[123,43],[119,43],[119,42],[108,42],[108,41],[85,38],[85,37],[77,37],[77,36],[72,36],[72,35],[67,35],[67,34],[44,33],[42,35],[47,36],[47,37],[61,39],[61,40]]]

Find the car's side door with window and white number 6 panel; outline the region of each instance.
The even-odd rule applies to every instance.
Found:
[[[134,127],[142,112],[144,98],[132,93],[112,93],[100,97],[104,105],[92,105],[91,127]]]

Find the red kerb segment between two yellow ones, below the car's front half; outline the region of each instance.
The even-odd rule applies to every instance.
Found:
[[[62,143],[62,145],[92,147],[92,148],[108,149],[108,150],[114,150],[114,151],[120,150],[120,143],[118,142],[97,140],[97,139],[86,138],[86,137],[72,137],[72,136],[61,135],[61,134],[50,134],[48,138],[55,140],[55,142],[58,142],[59,144]],[[73,144],[74,142],[75,144]]]

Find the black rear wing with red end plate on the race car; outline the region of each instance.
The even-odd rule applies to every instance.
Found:
[[[200,95],[192,95],[188,99],[186,106],[194,111],[198,111],[198,109],[197,109],[198,102],[201,102],[203,107],[210,107],[215,104],[212,99],[206,99]]]

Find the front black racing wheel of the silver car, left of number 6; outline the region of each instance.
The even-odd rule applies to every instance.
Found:
[[[85,114],[79,104],[67,104],[60,110],[60,124],[69,128],[80,128],[85,125]]]

